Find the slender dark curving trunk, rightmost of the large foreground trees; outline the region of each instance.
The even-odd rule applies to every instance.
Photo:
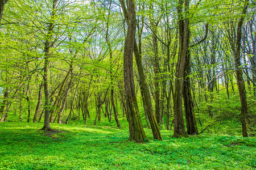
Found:
[[[247,101],[245,92],[245,83],[243,82],[242,69],[241,69],[241,37],[242,37],[242,25],[245,19],[249,0],[245,0],[245,6],[243,7],[242,16],[237,25],[237,41],[236,41],[236,53],[234,55],[237,85],[241,101],[241,122],[242,122],[242,135],[243,137],[249,137],[248,122],[247,122]]]

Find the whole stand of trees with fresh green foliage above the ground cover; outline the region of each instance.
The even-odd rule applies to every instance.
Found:
[[[255,6],[0,0],[1,122],[114,122],[136,142],[144,128],[254,136]]]

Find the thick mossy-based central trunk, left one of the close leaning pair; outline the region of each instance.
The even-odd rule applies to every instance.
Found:
[[[125,2],[123,0],[119,1],[122,7],[125,8]],[[127,22],[128,28],[125,39],[125,49],[123,52],[123,79],[125,83],[127,119],[129,120],[129,139],[136,142],[143,142],[146,138],[146,134],[142,126],[141,115],[139,114],[133,77],[133,52],[136,35],[135,1],[130,0],[128,2],[128,10],[123,10],[123,12],[127,12],[125,15],[127,15],[129,19],[129,22]]]

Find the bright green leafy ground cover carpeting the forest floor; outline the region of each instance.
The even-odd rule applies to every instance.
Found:
[[[0,169],[255,169],[255,137],[203,134],[147,143],[127,141],[129,131],[111,126],[0,124]]]

